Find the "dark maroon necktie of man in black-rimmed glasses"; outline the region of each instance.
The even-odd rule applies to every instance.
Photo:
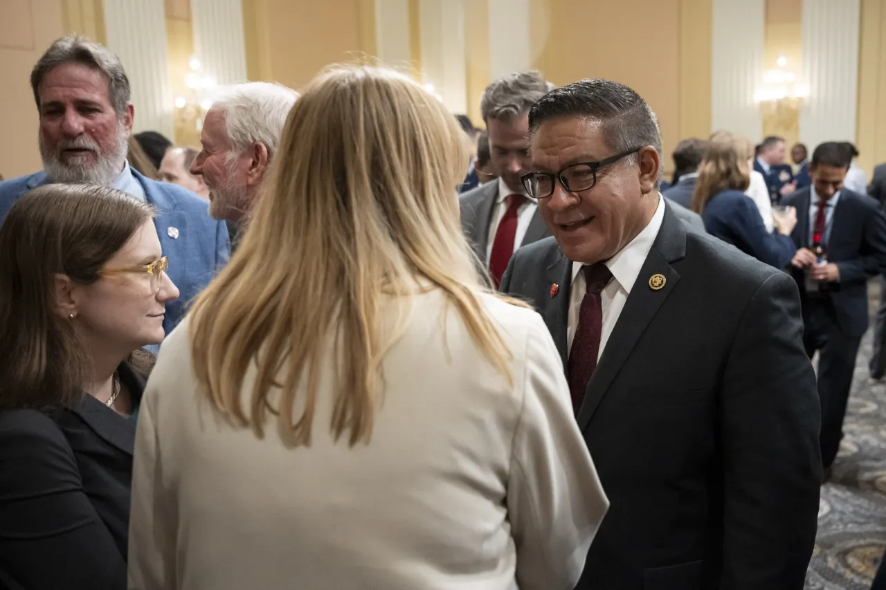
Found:
[[[603,309],[600,291],[610,282],[612,273],[602,262],[585,265],[581,268],[585,273],[587,292],[581,299],[579,309],[579,325],[572,337],[572,348],[569,353],[567,372],[569,391],[572,394],[572,408],[579,413],[581,402],[585,400],[587,384],[597,368],[597,354],[600,353],[600,337],[603,329]]]

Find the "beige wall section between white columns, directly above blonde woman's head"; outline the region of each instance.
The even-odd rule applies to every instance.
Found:
[[[246,73],[302,88],[329,64],[375,52],[372,0],[243,0]]]

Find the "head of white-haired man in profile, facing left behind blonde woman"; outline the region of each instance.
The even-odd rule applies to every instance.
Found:
[[[270,82],[221,89],[203,122],[203,150],[190,164],[190,174],[202,175],[209,189],[209,214],[215,219],[237,226],[248,219],[298,97]]]

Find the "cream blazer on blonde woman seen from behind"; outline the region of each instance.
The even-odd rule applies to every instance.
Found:
[[[258,439],[198,393],[185,320],[139,410],[129,588],[571,590],[608,501],[540,315],[482,297],[513,386],[440,291],[416,295],[353,448],[330,436],[334,362],[311,445]]]

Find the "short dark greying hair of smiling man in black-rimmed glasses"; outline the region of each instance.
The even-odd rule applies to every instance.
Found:
[[[532,105],[529,133],[549,119],[588,117],[602,123],[603,137],[615,153],[650,145],[662,161],[662,134],[656,113],[633,89],[610,80],[582,80],[551,90]],[[613,154],[614,155],[614,154]],[[633,154],[631,159],[636,158]],[[662,167],[659,164],[658,176]]]

